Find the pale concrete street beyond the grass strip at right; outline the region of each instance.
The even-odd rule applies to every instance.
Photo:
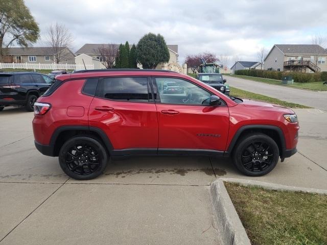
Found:
[[[327,111],[327,91],[311,91],[224,76],[231,87]]]

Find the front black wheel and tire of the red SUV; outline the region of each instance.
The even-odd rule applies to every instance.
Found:
[[[247,134],[238,141],[232,159],[243,174],[263,176],[276,166],[279,149],[276,142],[265,134]]]

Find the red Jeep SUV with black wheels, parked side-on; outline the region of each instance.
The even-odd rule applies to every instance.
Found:
[[[34,112],[36,148],[59,156],[63,171],[79,180],[126,155],[231,156],[243,174],[262,176],[296,153],[299,129],[290,109],[229,97],[164,70],[59,75]]]

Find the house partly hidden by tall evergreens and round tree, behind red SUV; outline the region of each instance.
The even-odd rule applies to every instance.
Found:
[[[119,44],[105,44],[105,43],[86,43],[84,44],[78,51],[75,52],[76,55],[76,64],[78,64],[79,62],[81,62],[79,59],[82,54],[87,55],[88,58],[87,61],[91,62],[91,64],[93,63],[97,63],[95,66],[98,66],[98,62],[95,61],[99,60],[100,61],[100,69],[104,69],[105,66],[101,63],[101,56],[99,54],[99,48],[101,47],[106,47],[108,45],[116,45],[117,47],[119,47]],[[131,48],[133,45],[129,45],[129,48]],[[169,51],[169,61],[166,64],[158,64],[158,66],[156,67],[156,69],[161,69],[162,66],[169,66],[169,64],[175,64],[178,63],[178,45],[167,45],[168,47],[168,51]],[[84,60],[85,62],[85,60]],[[141,68],[141,66],[138,64],[138,67]]]

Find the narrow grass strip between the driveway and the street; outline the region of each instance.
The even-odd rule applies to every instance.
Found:
[[[241,99],[250,99],[250,100],[255,100],[255,101],[263,101],[263,102],[268,102],[268,103],[272,103],[275,105],[281,105],[281,106],[285,106],[285,107],[291,107],[291,108],[311,108],[308,106],[303,106],[303,105],[299,105],[296,103],[291,103],[291,102],[286,102],[286,101],[281,101],[266,95],[262,95],[259,93],[252,93],[252,92],[248,92],[239,88],[233,88],[230,87],[230,96],[235,96],[235,97],[239,97]]]

